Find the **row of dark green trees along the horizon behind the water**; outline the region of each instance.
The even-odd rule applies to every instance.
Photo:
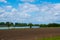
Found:
[[[60,27],[60,24],[57,23],[49,23],[49,24],[32,24],[32,23],[12,23],[12,22],[0,22],[0,27],[25,27],[25,26],[39,26],[39,27]]]

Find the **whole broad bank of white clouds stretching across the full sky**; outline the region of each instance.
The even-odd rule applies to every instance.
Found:
[[[8,5],[5,9],[0,8],[0,12],[4,12],[0,15],[0,20],[6,19],[13,22],[56,22],[60,20],[60,3],[42,4],[39,7],[34,4],[25,3],[19,4],[18,9]]]

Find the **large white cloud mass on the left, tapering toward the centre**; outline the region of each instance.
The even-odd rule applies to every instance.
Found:
[[[22,22],[30,17],[30,15],[27,14],[26,12],[25,13],[23,11],[21,12],[18,9],[13,8],[12,6],[6,6],[6,8],[2,8],[2,9],[5,11],[4,13],[0,14],[1,21],[4,21],[6,19],[5,21]],[[1,12],[3,11],[2,9]]]

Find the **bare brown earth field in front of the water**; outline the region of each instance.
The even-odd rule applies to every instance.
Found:
[[[37,40],[53,36],[60,36],[60,28],[0,30],[0,40]]]

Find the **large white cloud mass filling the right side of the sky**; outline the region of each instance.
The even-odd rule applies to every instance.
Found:
[[[40,13],[37,17],[32,18],[37,22],[56,22],[60,17],[60,3],[59,4],[47,4],[39,7]]]

